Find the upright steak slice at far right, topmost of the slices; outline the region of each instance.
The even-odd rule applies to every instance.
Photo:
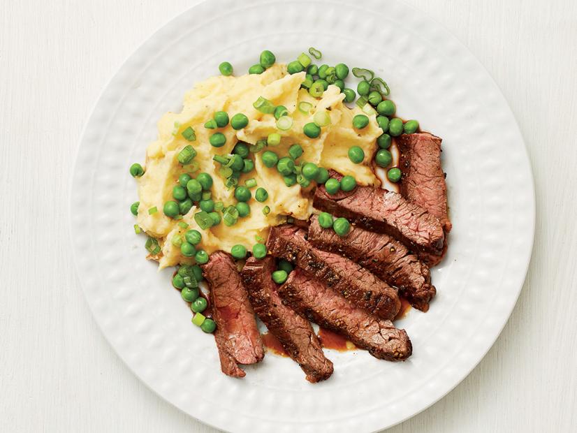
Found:
[[[402,134],[395,138],[401,152],[402,196],[425,208],[451,231],[447,214],[447,186],[441,166],[441,138],[430,133]]]

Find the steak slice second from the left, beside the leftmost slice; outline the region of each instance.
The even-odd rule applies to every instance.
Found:
[[[272,281],[274,270],[275,259],[268,256],[263,260],[249,258],[240,272],[254,311],[272,335],[279,339],[286,353],[298,362],[307,375],[307,381],[314,383],[328,379],[333,374],[333,362],[325,358],[309,321],[282,304],[277,285]]]

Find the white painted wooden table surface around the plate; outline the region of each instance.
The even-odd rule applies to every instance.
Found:
[[[0,2],[0,432],[215,431],[163,402],[105,342],[66,226],[73,155],[98,94],[194,3]],[[529,147],[537,220],[527,281],[495,346],[453,392],[389,432],[574,432],[577,2],[409,3],[504,92]]]

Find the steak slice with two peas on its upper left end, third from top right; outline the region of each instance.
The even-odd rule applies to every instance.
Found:
[[[308,240],[314,247],[341,254],[399,288],[401,295],[421,311],[429,309],[429,302],[437,291],[431,285],[431,274],[424,263],[409,252],[401,242],[389,235],[374,233],[359,226],[351,226],[345,236],[319,225],[312,217]]]

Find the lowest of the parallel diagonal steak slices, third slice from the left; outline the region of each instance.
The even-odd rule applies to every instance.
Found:
[[[301,316],[344,335],[375,358],[397,361],[409,358],[413,351],[405,330],[354,307],[341,295],[305,271],[295,269],[279,294]]]

